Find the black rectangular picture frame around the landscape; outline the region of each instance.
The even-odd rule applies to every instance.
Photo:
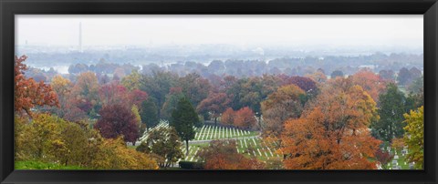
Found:
[[[14,170],[15,15],[424,16],[424,170]],[[1,183],[437,183],[436,0],[0,0]]]

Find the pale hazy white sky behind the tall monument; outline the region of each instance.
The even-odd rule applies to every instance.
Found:
[[[16,45],[422,47],[422,15],[16,15]]]

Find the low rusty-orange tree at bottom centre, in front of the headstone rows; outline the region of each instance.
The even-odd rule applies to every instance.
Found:
[[[265,169],[265,164],[256,158],[237,153],[235,140],[214,140],[197,156],[203,162],[203,169]]]

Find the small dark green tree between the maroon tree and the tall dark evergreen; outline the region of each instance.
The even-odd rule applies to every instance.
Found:
[[[141,103],[141,120],[147,128],[154,128],[159,123],[158,108],[152,99],[145,100]]]

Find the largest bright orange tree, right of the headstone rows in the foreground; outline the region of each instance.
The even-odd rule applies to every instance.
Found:
[[[380,140],[370,136],[376,103],[349,79],[336,78],[281,135],[287,169],[376,169]]]

